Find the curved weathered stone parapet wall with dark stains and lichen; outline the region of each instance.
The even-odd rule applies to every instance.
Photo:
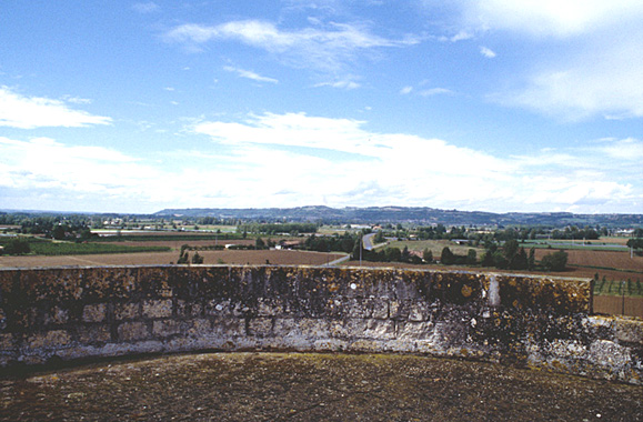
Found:
[[[642,384],[590,280],[314,267],[0,270],[0,366],[198,350],[408,352]]]

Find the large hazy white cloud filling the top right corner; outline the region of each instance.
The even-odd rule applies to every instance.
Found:
[[[539,50],[509,83],[516,88],[494,96],[501,103],[562,120],[643,117],[643,2],[475,0],[458,6],[463,31],[511,37],[514,49],[529,42]]]

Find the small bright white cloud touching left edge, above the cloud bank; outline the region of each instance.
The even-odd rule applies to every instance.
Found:
[[[62,101],[40,97],[28,98],[11,91],[8,87],[0,87],[0,127],[19,129],[81,128],[110,123],[110,118],[70,109]]]

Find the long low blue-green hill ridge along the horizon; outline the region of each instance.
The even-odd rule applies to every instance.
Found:
[[[368,207],[342,209],[329,207],[298,208],[190,208],[167,209],[155,217],[215,217],[241,220],[314,221],[330,223],[442,223],[445,225],[550,225],[550,227],[643,227],[643,214],[573,214],[570,212],[509,212],[439,210],[425,207]]]

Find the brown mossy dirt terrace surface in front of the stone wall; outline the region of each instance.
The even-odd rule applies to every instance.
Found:
[[[643,388],[414,355],[210,353],[0,379],[1,421],[643,421]]]

